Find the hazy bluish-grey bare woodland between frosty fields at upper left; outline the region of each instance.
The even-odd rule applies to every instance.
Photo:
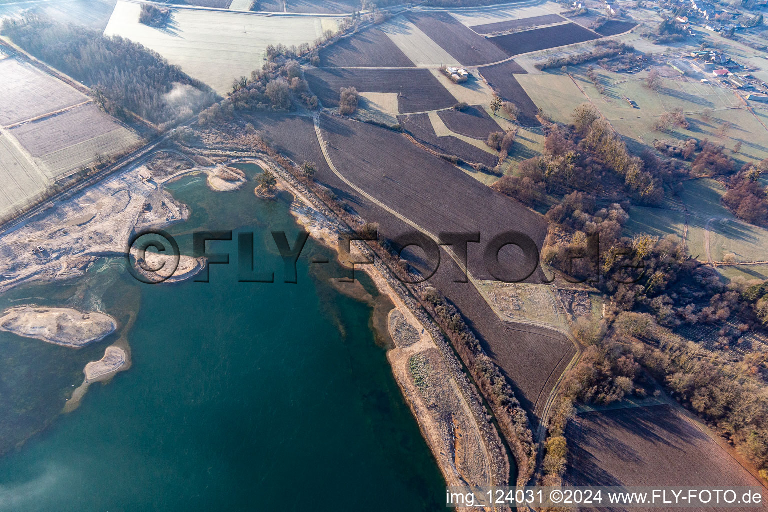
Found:
[[[171,124],[217,99],[157,52],[118,36],[39,15],[8,18],[2,30],[31,55],[93,88],[98,104],[117,117],[131,111],[155,124]]]

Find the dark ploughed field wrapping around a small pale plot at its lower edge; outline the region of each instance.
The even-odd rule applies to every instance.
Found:
[[[455,98],[426,69],[308,69],[306,80],[325,107],[339,106],[341,88],[399,94],[399,114],[452,107]]]

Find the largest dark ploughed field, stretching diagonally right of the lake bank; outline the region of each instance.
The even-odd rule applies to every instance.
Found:
[[[329,141],[327,149],[336,169],[356,187],[430,233],[482,229],[482,240],[488,240],[514,225],[537,243],[543,241],[543,217],[495,193],[448,162],[419,150],[402,135],[340,117],[322,116],[321,121],[323,139]],[[398,157],[392,158],[393,154]],[[316,176],[363,218],[380,223],[382,236],[392,238],[412,231],[398,216],[361,197],[335,174],[321,170]],[[469,267],[478,279],[490,279],[480,245],[478,251],[470,252]],[[458,269],[452,259],[443,256],[430,283],[471,319],[488,355],[511,378],[522,405],[535,415],[535,423],[549,391],[574,355],[573,345],[548,329],[503,322],[474,286],[453,282]],[[507,260],[507,256],[511,259]],[[501,258],[504,264],[515,265],[514,255],[502,251]],[[533,359],[535,365],[521,364]]]

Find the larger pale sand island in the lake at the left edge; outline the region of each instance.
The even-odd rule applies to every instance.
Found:
[[[2,331],[71,348],[101,341],[117,327],[104,313],[69,308],[18,306],[6,309],[0,317]]]

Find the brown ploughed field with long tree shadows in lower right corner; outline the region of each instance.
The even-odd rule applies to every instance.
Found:
[[[567,485],[760,487],[670,405],[594,411],[569,422]]]

